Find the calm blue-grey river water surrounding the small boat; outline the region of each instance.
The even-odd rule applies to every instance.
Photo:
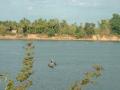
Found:
[[[0,40],[0,73],[15,80],[24,58],[25,40]],[[34,41],[35,63],[29,90],[68,90],[81,80],[93,64],[104,67],[94,85],[84,90],[120,90],[120,42],[99,41]],[[57,62],[54,69],[48,62]],[[15,81],[16,82],[16,81]],[[4,90],[5,81],[0,81]]]

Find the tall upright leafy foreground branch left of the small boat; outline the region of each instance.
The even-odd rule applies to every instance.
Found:
[[[9,80],[5,90],[28,90],[32,85],[31,75],[33,73],[32,68],[34,62],[33,48],[32,43],[29,42],[25,48],[26,54],[22,68],[16,77],[17,82]]]

